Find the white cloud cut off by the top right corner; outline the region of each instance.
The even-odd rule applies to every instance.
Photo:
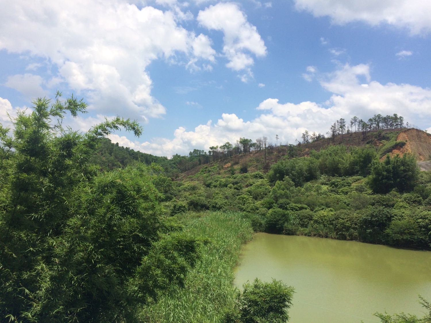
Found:
[[[431,1],[428,0],[294,0],[298,10],[315,17],[329,16],[335,24],[362,21],[407,28],[411,34],[431,31]]]

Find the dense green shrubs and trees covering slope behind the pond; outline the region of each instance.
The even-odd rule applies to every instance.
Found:
[[[167,206],[172,214],[246,212],[255,230],[270,233],[430,249],[431,174],[419,174],[408,154],[378,157],[372,147],[337,145],[287,156],[267,174],[204,166]]]

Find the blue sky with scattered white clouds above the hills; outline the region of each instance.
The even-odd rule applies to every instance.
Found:
[[[37,97],[82,97],[87,131],[187,155],[240,137],[295,143],[340,118],[431,132],[431,1],[0,0],[0,123]]]

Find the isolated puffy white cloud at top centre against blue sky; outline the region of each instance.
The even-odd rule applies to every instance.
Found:
[[[254,64],[250,53],[265,56],[266,47],[255,26],[247,22],[247,16],[234,3],[218,3],[200,10],[197,16],[200,25],[222,31],[223,53],[234,71],[247,70]]]

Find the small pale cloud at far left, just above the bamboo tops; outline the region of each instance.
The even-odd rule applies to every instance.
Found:
[[[3,85],[21,92],[27,99],[36,99],[47,95],[42,88],[43,83],[39,75],[17,74],[9,76]]]

